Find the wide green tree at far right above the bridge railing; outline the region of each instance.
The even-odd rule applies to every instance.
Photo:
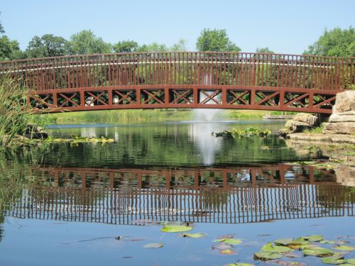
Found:
[[[355,29],[334,28],[324,31],[320,38],[303,52],[304,55],[355,57]]]

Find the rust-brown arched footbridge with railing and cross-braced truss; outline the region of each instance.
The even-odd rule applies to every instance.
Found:
[[[0,62],[38,111],[214,108],[332,113],[355,57],[143,52]]]

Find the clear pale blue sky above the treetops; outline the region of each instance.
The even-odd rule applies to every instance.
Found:
[[[301,54],[325,29],[355,24],[355,0],[0,0],[5,34],[26,49],[34,35],[69,39],[92,30],[109,43],[139,45],[187,41],[190,51],[202,29],[225,29],[243,52],[268,47]]]

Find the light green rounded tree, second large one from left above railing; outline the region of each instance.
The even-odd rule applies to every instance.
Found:
[[[89,55],[111,52],[112,45],[105,43],[102,38],[96,37],[92,31],[80,31],[70,36],[67,43],[70,55]]]

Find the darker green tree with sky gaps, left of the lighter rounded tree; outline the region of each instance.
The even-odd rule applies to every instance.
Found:
[[[34,36],[28,43],[26,54],[30,58],[67,55],[67,40],[53,34]]]

